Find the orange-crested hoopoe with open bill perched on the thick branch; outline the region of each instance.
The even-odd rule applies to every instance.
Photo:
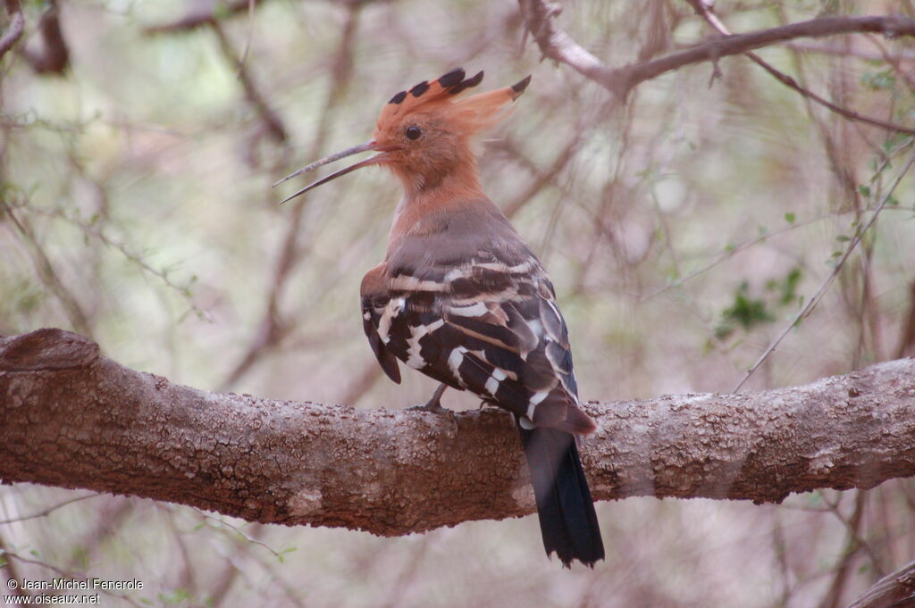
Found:
[[[531,76],[471,96],[483,72],[452,69],[388,101],[372,138],[276,182],[341,158],[377,154],[298,190],[365,166],[404,188],[384,260],[361,283],[365,335],[384,373],[400,363],[440,382],[419,409],[446,411],[447,388],[510,411],[521,436],[547,556],[593,568],[604,545],[576,435],[597,429],[578,399],[568,328],[553,283],[480,185],[474,137],[501,122]]]

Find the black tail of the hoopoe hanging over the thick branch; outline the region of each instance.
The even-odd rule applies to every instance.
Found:
[[[594,500],[578,459],[575,435],[546,427],[518,425],[531,470],[546,555],[553,551],[565,567],[579,560],[594,567],[604,559]]]

